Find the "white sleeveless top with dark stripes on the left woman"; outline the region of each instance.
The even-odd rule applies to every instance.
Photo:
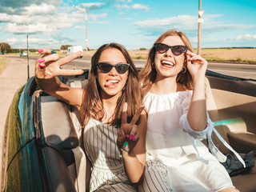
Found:
[[[84,146],[92,164],[90,191],[137,191],[125,173],[116,143],[118,131],[94,118],[85,127]]]

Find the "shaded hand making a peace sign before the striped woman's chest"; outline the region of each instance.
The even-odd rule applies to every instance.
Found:
[[[142,113],[143,109],[144,106],[139,107],[130,123],[128,123],[127,103],[125,102],[122,108],[121,129],[118,132],[117,138],[118,149],[121,152],[123,150],[129,153],[131,150],[134,149],[134,146],[136,146],[139,139],[139,135],[137,134],[138,126],[136,126],[135,123],[138,121],[138,118],[140,117],[140,114]]]

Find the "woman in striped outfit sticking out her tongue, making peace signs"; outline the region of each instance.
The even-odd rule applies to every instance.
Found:
[[[118,43],[101,46],[91,59],[84,89],[66,86],[57,77],[83,73],[60,69],[80,52],[59,60],[50,50],[39,52],[38,86],[80,111],[84,148],[92,164],[90,191],[136,191],[146,164],[146,113],[138,72],[126,49]]]

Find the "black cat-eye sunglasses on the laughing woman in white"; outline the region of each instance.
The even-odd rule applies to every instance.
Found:
[[[167,46],[166,44],[163,44],[161,42],[154,43],[154,48],[160,54],[166,53],[166,51],[170,49],[171,52],[176,56],[183,54],[187,50],[186,46]]]

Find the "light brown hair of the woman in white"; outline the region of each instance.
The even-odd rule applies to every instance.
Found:
[[[154,43],[162,42],[165,38],[169,36],[179,36],[180,38],[182,38],[182,42],[184,42],[184,45],[188,47],[188,50],[193,52],[193,46],[191,45],[189,38],[186,37],[186,34],[177,30],[167,30],[165,33],[161,34],[160,37]],[[144,68],[139,73],[139,78],[142,80],[143,96],[145,96],[146,93],[150,90],[157,76],[157,71],[153,67],[155,52],[156,50],[154,46],[152,46],[147,58],[146,66],[144,66]],[[184,61],[184,65],[185,65],[185,62],[186,62],[186,59]],[[188,90],[193,89],[192,77],[190,75],[189,70],[186,70],[185,73],[180,72],[177,76],[177,82],[184,85]]]

